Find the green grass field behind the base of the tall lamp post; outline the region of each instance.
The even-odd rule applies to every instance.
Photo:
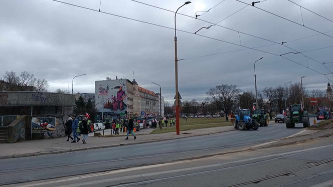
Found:
[[[218,127],[218,126],[228,126],[232,125],[230,121],[226,122],[225,117],[219,118],[188,118],[187,122],[185,119],[181,118],[181,131],[185,130],[194,130],[199,128],[211,128],[211,127]],[[170,123],[168,123],[168,127],[163,127],[162,130],[159,128],[154,129],[150,133],[165,133],[165,132],[176,132],[176,127],[170,127]]]

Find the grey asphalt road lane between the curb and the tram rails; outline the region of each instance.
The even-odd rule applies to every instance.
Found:
[[[301,130],[301,124],[287,129],[284,123],[275,123],[256,131],[235,130],[137,145],[2,159],[0,185],[205,157],[287,137]]]

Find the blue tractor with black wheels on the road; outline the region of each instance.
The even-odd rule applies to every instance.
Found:
[[[252,120],[249,109],[237,109],[237,115],[235,115],[233,124],[234,128],[238,128],[239,130],[257,130],[259,128],[258,121]]]

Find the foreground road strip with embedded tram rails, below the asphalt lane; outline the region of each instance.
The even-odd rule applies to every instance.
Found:
[[[280,152],[266,155],[263,154],[263,152],[269,152],[269,150],[262,149],[252,155],[251,153],[240,152],[226,158],[210,157],[186,162],[177,161],[174,163],[139,166],[117,171],[98,172],[54,180],[30,182],[22,186],[203,186],[201,185],[202,183],[196,183],[198,179],[200,181],[206,181],[206,185],[223,184],[224,186],[241,186],[264,182],[281,176],[288,177],[288,174],[295,174],[303,170],[303,172],[307,173],[309,176],[305,177],[305,179],[298,176],[297,178],[300,181],[304,180],[303,182],[309,182],[310,184],[311,182],[306,180],[315,178],[315,183],[321,183],[327,180],[327,178],[324,177],[325,174],[329,177],[333,172],[331,169],[332,164],[327,165],[333,161],[331,157],[333,145],[330,144],[330,142],[331,139],[324,143],[309,145],[308,148],[304,149],[301,147],[298,147],[298,149],[282,148]],[[324,145],[317,146],[318,144]],[[302,147],[304,146],[307,145],[302,145]],[[280,150],[280,148],[278,149]],[[313,154],[320,154],[320,156],[316,159],[310,159]],[[241,159],[238,159],[239,156],[241,156]],[[290,161],[293,163],[290,164]],[[193,165],[193,163],[196,164]],[[278,166],[274,167],[274,164]],[[177,167],[173,167],[173,165],[177,165]],[[264,165],[264,167],[269,170],[269,172],[266,172],[269,173],[268,176],[265,171],[259,169],[260,165]],[[324,168],[324,166],[326,166],[326,168]],[[279,170],[281,170],[281,172],[279,172]],[[248,174],[249,176],[243,175],[242,177],[237,177],[237,173],[244,172],[250,173]],[[320,174],[317,174],[317,172]],[[231,175],[233,177],[231,177]],[[258,177],[261,175],[266,176]],[[284,182],[281,181],[281,179],[277,181]],[[290,182],[291,184],[294,184],[294,181],[295,178],[292,175],[286,180],[287,183]],[[270,184],[272,184],[272,186],[276,185],[274,181],[270,181]],[[267,186],[268,183],[262,185]],[[294,186],[303,186],[303,184]]]

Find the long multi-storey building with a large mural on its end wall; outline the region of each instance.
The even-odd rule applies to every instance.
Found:
[[[137,84],[135,79],[109,77],[95,81],[95,103],[99,112],[120,115],[159,115],[159,95]],[[162,110],[163,110],[162,100]],[[162,114],[164,112],[162,111]]]

